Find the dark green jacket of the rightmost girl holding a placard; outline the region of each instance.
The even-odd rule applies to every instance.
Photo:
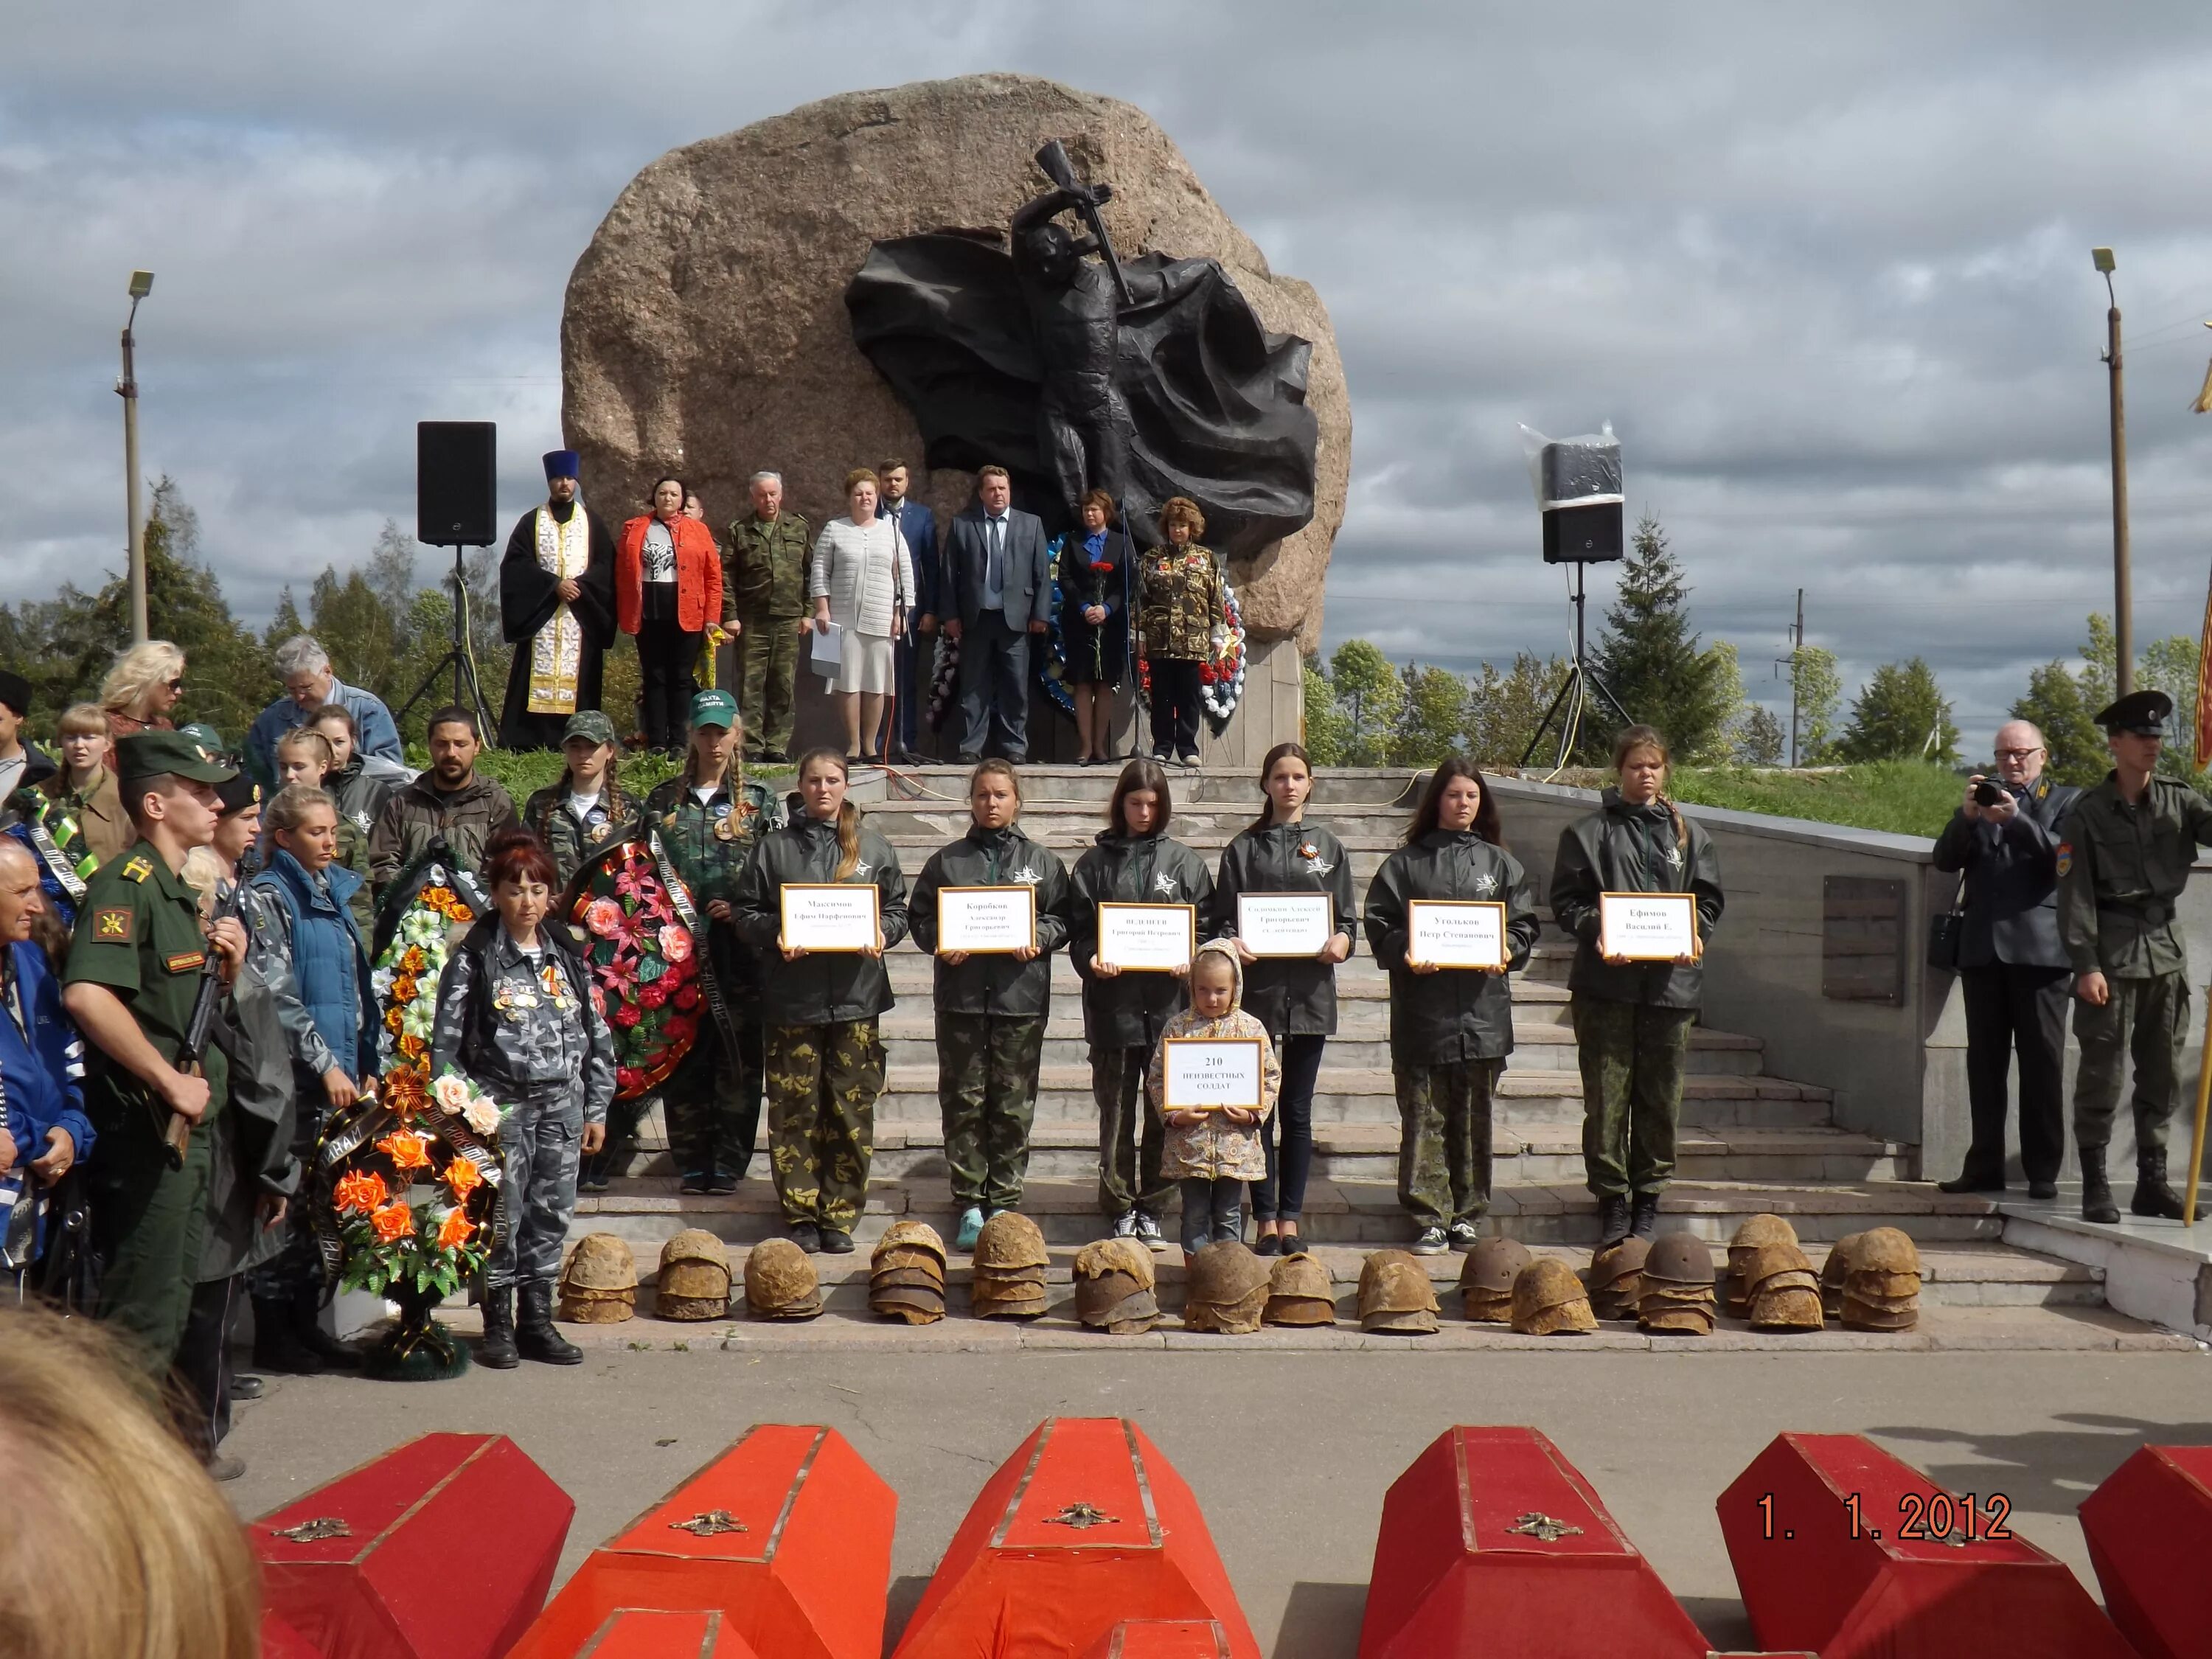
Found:
[[[1703,827],[1681,818],[1666,801],[1632,807],[1619,790],[1606,790],[1601,801],[1588,818],[1559,832],[1559,854],[1551,865],[1551,918],[1575,936],[1566,989],[1604,1002],[1694,1009],[1705,984],[1703,967],[1608,962],[1597,953],[1597,896],[1697,894],[1697,936],[1710,940],[1725,902],[1721,854]]]

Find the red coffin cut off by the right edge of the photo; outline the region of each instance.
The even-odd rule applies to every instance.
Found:
[[[2081,1500],[2104,1606],[2143,1659],[2212,1655],[2212,1447],[2141,1447]]]

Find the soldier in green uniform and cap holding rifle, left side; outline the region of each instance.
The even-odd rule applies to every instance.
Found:
[[[210,1046],[199,1075],[175,1055],[215,949],[226,975],[246,962],[246,929],[201,931],[184,858],[215,838],[217,765],[184,732],[137,732],[117,745],[124,810],[137,843],[84,889],[62,1000],[84,1033],[86,1113],[100,1133],[88,1168],[93,1250],[104,1261],[97,1314],[168,1374],[192,1310],[208,1228],[210,1133],[228,1097],[228,1064]],[[166,1139],[188,1126],[181,1161]]]

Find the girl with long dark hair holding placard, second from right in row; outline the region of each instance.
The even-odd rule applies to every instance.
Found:
[[[1416,905],[1442,911],[1420,940]],[[1447,927],[1458,905],[1495,905],[1502,916],[1458,911],[1464,927]],[[1398,1203],[1420,1228],[1418,1256],[1473,1250],[1491,1206],[1491,1099],[1513,1053],[1506,975],[1528,960],[1540,925],[1528,872],[1504,849],[1482,772],[1458,754],[1440,761],[1405,845],[1367,887],[1365,916],[1367,949],[1389,971]]]

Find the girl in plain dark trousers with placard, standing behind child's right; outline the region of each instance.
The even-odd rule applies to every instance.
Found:
[[[1267,1175],[1252,1190],[1252,1217],[1259,1221],[1259,1254],[1290,1254],[1305,1212],[1305,1175],[1314,1161],[1314,1079],[1321,1075],[1321,1051],[1336,1031],[1336,964],[1352,956],[1352,929],[1358,927],[1352,894],[1352,860],[1345,843],[1318,823],[1305,821],[1305,803],[1314,792],[1314,765],[1296,743],[1276,743],[1259,768],[1267,803],[1259,818],[1221,854],[1214,878],[1214,931],[1237,942],[1237,960],[1245,969],[1245,1006],[1267,1026],[1283,1048],[1281,1110],[1267,1115]],[[1296,936],[1296,907],[1267,907],[1279,894],[1321,894],[1323,911]],[[1248,907],[1243,931],[1267,918],[1267,933],[1239,936],[1239,898],[1261,900]],[[1290,953],[1296,951],[1296,953]],[[1276,1128],[1281,1126],[1281,1128]],[[1279,1146],[1281,1141],[1281,1146]]]

